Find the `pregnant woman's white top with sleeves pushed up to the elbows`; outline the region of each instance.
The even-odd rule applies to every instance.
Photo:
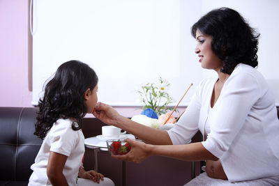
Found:
[[[202,145],[220,159],[230,182],[279,176],[279,121],[264,77],[249,65],[237,65],[210,109],[217,79],[199,84],[168,131],[172,144],[185,144],[200,130],[207,137]]]

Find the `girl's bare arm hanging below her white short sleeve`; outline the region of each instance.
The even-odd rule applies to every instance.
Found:
[[[50,183],[52,183],[53,186],[68,186],[67,180],[63,175],[63,168],[67,158],[66,155],[50,151],[50,157],[47,163],[47,177],[50,179]]]

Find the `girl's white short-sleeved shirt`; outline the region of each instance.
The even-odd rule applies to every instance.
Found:
[[[68,185],[77,185],[77,174],[84,155],[84,135],[82,130],[73,130],[72,123],[70,119],[59,119],[47,133],[35,163],[31,166],[33,173],[29,185],[51,185],[47,178],[50,151],[68,156],[63,174]]]

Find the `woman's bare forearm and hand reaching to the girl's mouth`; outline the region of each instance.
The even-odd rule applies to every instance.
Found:
[[[131,121],[129,118],[121,116],[110,105],[98,102],[96,105],[96,111],[93,112],[96,118],[99,118],[104,123],[114,125],[123,130],[126,130],[130,134],[134,134],[136,137],[144,140],[148,144],[161,144],[171,145],[172,141],[169,138],[169,134],[165,130],[158,130],[152,127],[147,127],[140,123]]]

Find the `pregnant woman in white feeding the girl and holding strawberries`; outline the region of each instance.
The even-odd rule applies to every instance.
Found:
[[[195,53],[202,68],[215,70],[217,77],[199,84],[172,130],[145,127],[120,116],[106,104],[97,104],[93,113],[96,117],[149,143],[128,139],[133,146],[130,153],[115,158],[141,162],[149,155],[163,155],[206,160],[207,176],[201,176],[213,183],[218,183],[217,179],[257,182],[262,178],[262,185],[279,184],[275,99],[264,77],[255,70],[259,35],[230,8],[204,15],[193,25],[192,35],[197,40]],[[186,144],[197,130],[204,141]]]

